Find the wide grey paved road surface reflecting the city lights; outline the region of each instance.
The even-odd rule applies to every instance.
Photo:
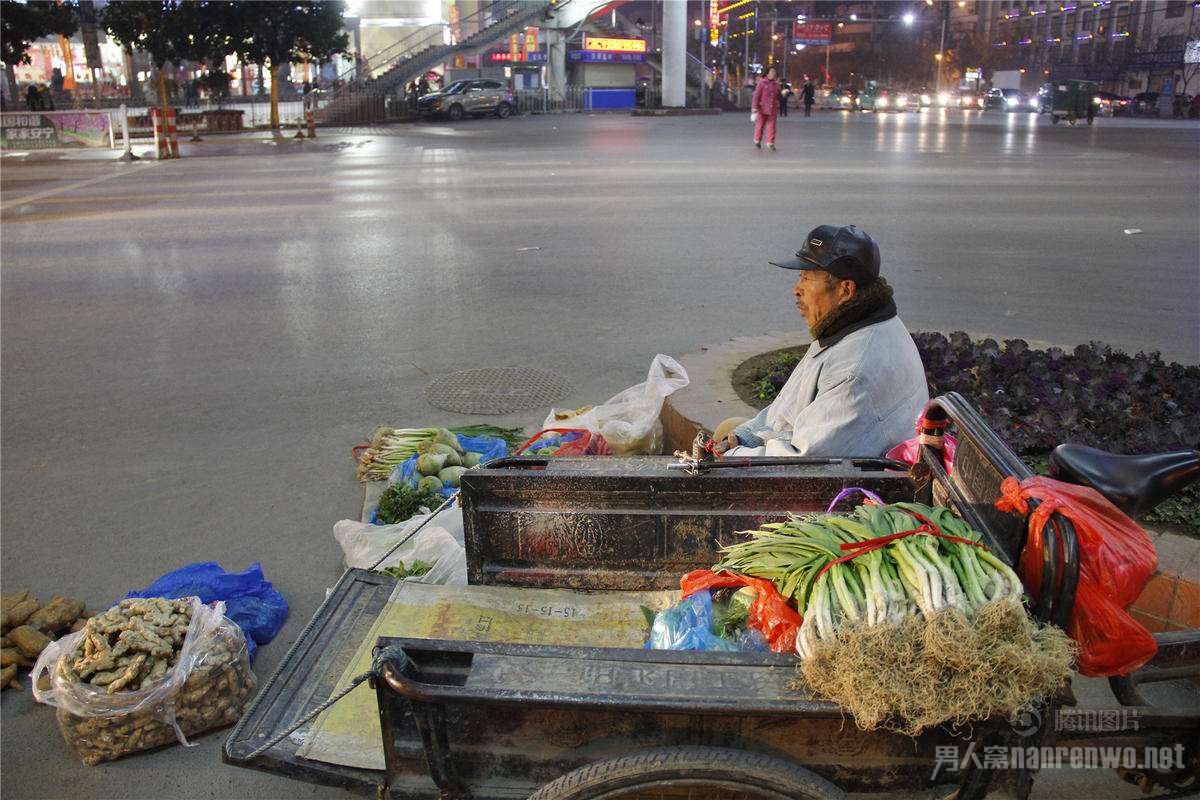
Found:
[[[878,240],[911,327],[1200,361],[1196,126],[821,114],[768,154],[742,115],[559,116],[186,151],[4,158],[0,572],[95,607],[262,560],[293,606],[263,676],[340,573],[350,445],[463,421],[433,377],[550,367],[582,404],[655,353],[797,325],[766,261],[815,224]],[[343,796],[223,766],[221,735],[84,768],[48,709],[2,714],[14,798]],[[1138,796],[1090,780],[1040,793]]]

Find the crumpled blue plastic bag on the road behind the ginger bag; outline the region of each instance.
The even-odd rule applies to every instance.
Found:
[[[246,567],[245,572],[226,572],[216,561],[188,564],[125,597],[176,599],[192,595],[203,603],[224,601],[226,616],[246,634],[251,661],[257,645],[274,639],[288,618],[288,601],[263,576],[263,565],[258,561]]]

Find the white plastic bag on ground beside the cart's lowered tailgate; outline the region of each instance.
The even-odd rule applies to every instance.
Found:
[[[334,539],[342,546],[346,554],[346,566],[368,570],[379,558],[397,542],[403,541],[413,530],[428,518],[419,515],[395,525],[372,525],[354,519],[342,519],[334,524]],[[462,519],[460,512],[458,518]],[[414,561],[426,561],[433,569],[426,575],[404,578],[416,583],[439,583],[457,587],[467,585],[467,551],[454,540],[445,529],[432,523],[409,539],[395,553],[389,555],[378,569],[398,566],[403,561],[412,567]]]

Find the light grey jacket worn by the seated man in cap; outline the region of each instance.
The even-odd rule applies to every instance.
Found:
[[[928,402],[917,345],[893,317],[814,342],[775,401],[736,428],[744,446],[730,455],[882,456],[916,435]]]

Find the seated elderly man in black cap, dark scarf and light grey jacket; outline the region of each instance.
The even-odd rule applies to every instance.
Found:
[[[718,427],[718,451],[875,457],[911,438],[929,401],[925,371],[876,243],[854,225],[821,225],[794,259],[772,264],[800,271],[793,291],[812,344],[758,416]]]

